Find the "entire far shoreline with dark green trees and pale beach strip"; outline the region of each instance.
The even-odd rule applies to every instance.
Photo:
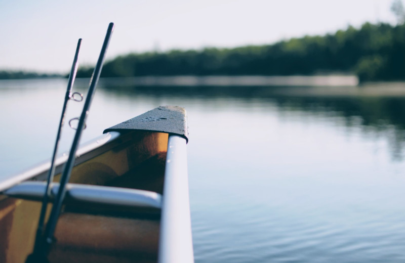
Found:
[[[142,85],[345,86],[405,80],[404,33],[405,24],[365,23],[360,28],[349,26],[333,34],[291,38],[271,45],[130,53],[106,61],[101,77],[132,78]],[[93,68],[85,65],[76,76],[90,77],[92,73]],[[318,74],[328,77],[318,78]],[[330,83],[334,74],[347,78]],[[62,75],[0,70],[0,79],[55,76]],[[314,76],[316,81],[310,79]]]

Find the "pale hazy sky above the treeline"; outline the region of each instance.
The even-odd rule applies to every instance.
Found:
[[[68,72],[97,60],[109,22],[107,58],[130,52],[260,45],[325,34],[366,21],[394,23],[392,0],[0,0],[0,69]]]

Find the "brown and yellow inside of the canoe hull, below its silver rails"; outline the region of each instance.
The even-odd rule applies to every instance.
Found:
[[[132,131],[76,160],[69,183],[162,194],[168,134]],[[60,170],[61,167],[58,167]],[[43,180],[44,174],[33,179]],[[59,181],[60,174],[55,177]],[[48,212],[51,204],[48,205]],[[0,262],[25,262],[32,251],[41,204],[0,196]],[[155,262],[157,209],[65,205],[50,262]]]

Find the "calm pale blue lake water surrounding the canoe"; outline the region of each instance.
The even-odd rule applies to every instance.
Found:
[[[405,261],[405,83],[106,83],[83,141],[159,105],[186,108],[196,262]],[[65,85],[0,81],[0,176],[50,157]],[[68,118],[82,107],[70,102]]]

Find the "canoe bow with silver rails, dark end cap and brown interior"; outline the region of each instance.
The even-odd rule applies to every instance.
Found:
[[[193,262],[185,110],[161,106],[80,146],[49,262]],[[49,210],[66,154],[56,160]],[[50,161],[0,180],[0,262],[32,252]]]

